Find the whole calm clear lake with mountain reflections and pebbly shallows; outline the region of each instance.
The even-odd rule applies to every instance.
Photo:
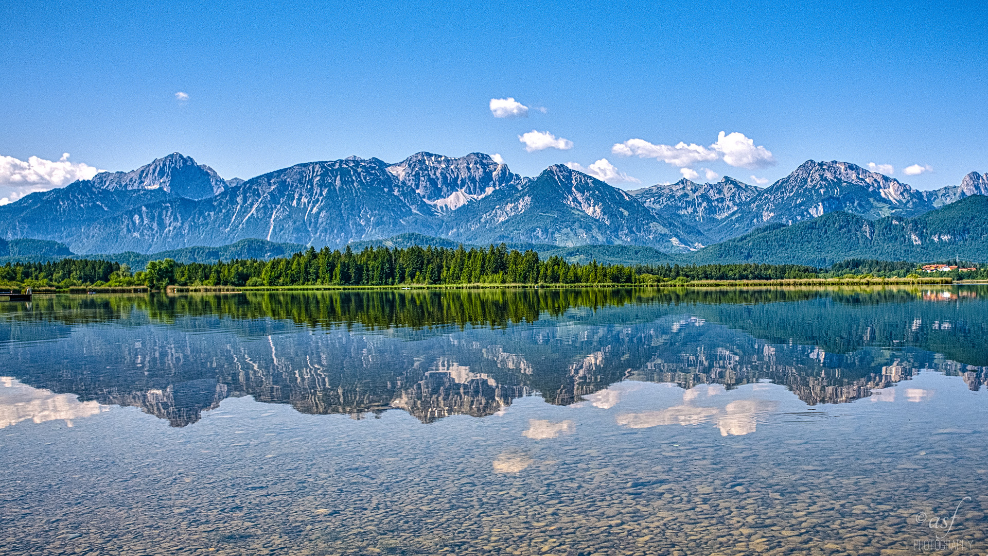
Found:
[[[0,554],[985,554],[988,288],[0,304]]]

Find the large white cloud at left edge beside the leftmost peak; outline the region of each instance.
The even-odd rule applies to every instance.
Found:
[[[0,198],[0,205],[13,203],[36,191],[47,191],[76,180],[90,179],[97,172],[104,171],[81,162],[69,162],[68,156],[68,152],[65,152],[56,161],[38,156],[31,156],[25,161],[0,155],[0,187],[5,190],[5,196]]]

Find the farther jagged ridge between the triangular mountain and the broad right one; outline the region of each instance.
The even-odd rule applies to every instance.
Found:
[[[754,185],[724,176],[717,183],[700,185],[683,178],[672,185],[653,185],[628,193],[658,216],[675,214],[700,230],[709,230],[761,192]]]

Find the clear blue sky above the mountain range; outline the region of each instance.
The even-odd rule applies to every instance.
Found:
[[[988,171],[983,3],[95,4],[5,3],[0,155],[128,170],[180,151],[249,178],[482,151],[526,175],[607,158],[641,185],[809,158],[923,189]],[[509,97],[528,117],[494,117]],[[530,152],[533,131],[572,146]],[[728,164],[719,132],[771,158]],[[683,170],[628,139],[707,154]]]

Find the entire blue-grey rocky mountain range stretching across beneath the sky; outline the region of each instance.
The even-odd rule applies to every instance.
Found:
[[[50,239],[85,254],[215,247],[248,238],[338,248],[421,233],[474,244],[638,245],[700,255],[713,252],[699,250],[706,245],[766,226],[841,212],[864,228],[870,221],[919,217],[972,195],[988,195],[988,175],[971,172],[957,186],[918,191],[837,161],[808,160],[765,189],[724,177],[625,192],[564,165],[520,176],[476,152],[458,158],[419,152],[393,164],[358,157],[306,162],[246,181],[223,180],[173,153],[0,207],[0,238]],[[937,235],[937,244],[959,237],[949,230],[924,233]],[[979,251],[985,239],[965,237],[975,245],[968,250],[984,252],[974,258],[988,258],[988,250]]]

